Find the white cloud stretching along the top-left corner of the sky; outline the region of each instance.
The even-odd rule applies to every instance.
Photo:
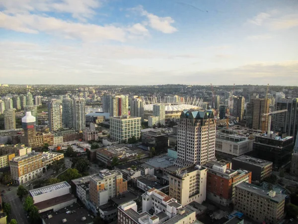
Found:
[[[80,20],[90,18],[100,5],[99,0],[0,0],[4,13],[66,12]]]

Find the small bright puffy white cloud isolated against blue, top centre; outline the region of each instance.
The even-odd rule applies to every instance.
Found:
[[[159,17],[157,15],[154,15],[152,13],[149,13],[146,11],[142,5],[139,5],[135,8],[131,8],[130,10],[141,12],[143,16],[146,16],[148,18],[148,25],[155,30],[158,30],[163,33],[174,33],[177,31],[177,29],[172,26],[171,24],[174,23],[174,19],[171,17]]]

